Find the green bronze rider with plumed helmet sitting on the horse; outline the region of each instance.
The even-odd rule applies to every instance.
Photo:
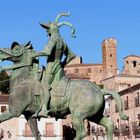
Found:
[[[42,84],[44,87],[44,97],[40,109],[34,114],[34,117],[48,117],[48,102],[50,100],[51,83],[55,77],[55,74],[59,72],[60,79],[64,76],[64,66],[68,64],[75,54],[68,48],[67,44],[60,37],[59,27],[62,25],[68,25],[72,28],[72,37],[74,37],[75,29],[72,24],[68,22],[58,23],[61,16],[69,16],[69,13],[61,13],[57,16],[55,22],[49,22],[48,24],[40,24],[46,29],[48,33],[48,44],[45,46],[43,52],[38,53],[38,56],[47,56],[47,67],[45,76],[43,76]],[[63,54],[66,56],[64,61],[61,62]]]

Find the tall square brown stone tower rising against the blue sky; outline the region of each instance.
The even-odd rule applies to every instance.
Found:
[[[117,41],[113,38],[105,39],[102,42],[103,78],[117,74]]]

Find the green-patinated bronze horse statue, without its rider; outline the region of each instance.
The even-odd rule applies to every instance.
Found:
[[[12,53],[13,49],[15,49],[14,53]],[[17,50],[18,53],[15,53]],[[39,110],[43,100],[42,94],[45,91],[40,81],[41,78],[38,78],[41,76],[36,76],[36,60],[22,63],[22,58],[28,59],[27,55],[32,53],[35,51],[30,43],[19,45],[14,42],[11,48],[0,49],[0,60],[14,63],[12,66],[1,68],[1,70],[13,70],[13,72],[10,79],[9,109],[0,115],[0,123],[23,114],[31,127],[35,140],[41,140],[37,118],[32,116]],[[32,70],[34,72],[31,72]],[[85,119],[104,126],[107,130],[107,140],[113,140],[113,121],[103,115],[105,95],[110,95],[115,99],[120,118],[126,120],[127,116],[123,114],[122,100],[118,93],[100,89],[88,80],[74,80],[66,76],[63,76],[57,86],[51,90],[49,116],[58,119],[71,114],[72,124],[76,129],[75,140],[81,140],[87,136],[84,127]]]

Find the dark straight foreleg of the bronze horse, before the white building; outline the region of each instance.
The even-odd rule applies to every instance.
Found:
[[[38,125],[37,125],[37,120],[35,118],[29,117],[29,119],[27,121],[28,121],[31,131],[35,137],[35,140],[41,140],[40,132],[38,130]]]

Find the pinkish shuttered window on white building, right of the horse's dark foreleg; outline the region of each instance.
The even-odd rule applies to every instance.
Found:
[[[53,123],[46,123],[45,136],[47,136],[47,137],[54,136],[54,124]]]

